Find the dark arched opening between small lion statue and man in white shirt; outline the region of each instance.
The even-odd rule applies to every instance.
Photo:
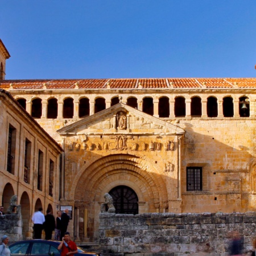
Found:
[[[22,214],[22,238],[23,240],[32,238],[32,223],[30,216],[30,199],[27,192],[23,192],[20,198],[20,209]]]

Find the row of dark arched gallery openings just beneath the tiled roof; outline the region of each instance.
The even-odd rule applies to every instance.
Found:
[[[20,105],[26,109],[26,99],[19,98],[17,100]],[[34,118],[42,117],[42,99],[34,98],[31,101],[31,115]],[[114,97],[111,100],[110,106],[114,106],[119,103],[119,98]],[[126,104],[133,108],[138,108],[138,100],[135,97],[127,98]],[[199,96],[191,98],[191,116],[201,117],[202,115],[202,100]],[[56,98],[49,98],[47,101],[47,118],[57,118],[58,102]],[[94,102],[94,113],[98,113],[101,110],[106,109],[105,98],[98,97]],[[224,117],[234,117],[234,100],[232,97],[227,96],[223,98],[222,110]],[[142,100],[142,112],[154,115],[154,102],[152,97],[144,97]],[[79,100],[79,118],[84,118],[90,114],[90,102],[89,98],[80,98]],[[74,115],[74,100],[71,97],[65,98],[63,101],[63,118],[73,118]],[[159,98],[158,102],[158,115],[160,118],[170,117],[170,99],[168,97]],[[174,115],[175,117],[186,116],[186,102],[182,96],[177,96],[174,102]],[[239,115],[240,117],[250,116],[250,102],[249,98],[243,96],[239,98]],[[218,116],[218,100],[214,96],[207,98],[207,116]]]

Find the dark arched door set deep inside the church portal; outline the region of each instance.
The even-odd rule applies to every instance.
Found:
[[[138,196],[135,191],[127,186],[117,186],[109,192],[114,201],[115,213],[138,214]]]

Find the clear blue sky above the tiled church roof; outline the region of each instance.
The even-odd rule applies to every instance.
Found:
[[[6,79],[255,77],[255,0],[0,0]]]

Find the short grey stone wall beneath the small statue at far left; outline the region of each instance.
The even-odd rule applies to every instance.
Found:
[[[0,238],[9,236],[10,242],[22,240],[22,217],[20,214],[0,216]]]

